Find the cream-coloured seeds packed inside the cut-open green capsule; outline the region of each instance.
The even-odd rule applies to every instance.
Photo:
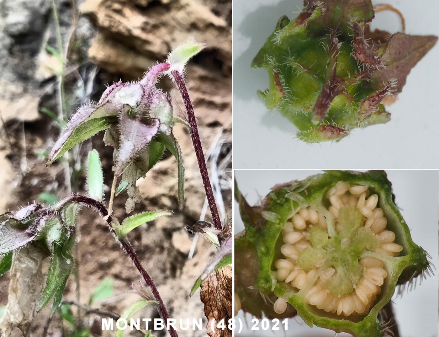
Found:
[[[401,245],[394,242],[395,233],[386,230],[387,219],[383,210],[377,207],[378,195],[370,195],[368,186],[339,181],[328,190],[326,197],[331,203],[328,210],[335,219],[340,254],[355,245],[351,240],[352,236],[340,234],[344,228],[338,218],[344,207],[357,209],[354,212],[359,211],[363,216],[362,225],[354,228],[354,234],[361,238],[356,243],[362,252],[370,250],[383,255],[398,256],[403,250]],[[361,215],[359,214],[360,217]],[[281,246],[281,253],[285,259],[278,259],[274,264],[277,281],[290,284],[295,289],[304,288],[306,303],[317,309],[345,317],[366,315],[381,293],[381,286],[387,277],[384,263],[375,257],[365,257],[355,260],[352,265],[343,265],[344,269],[355,267],[359,276],[354,278],[355,281],[347,290],[340,290],[338,284],[343,283],[340,282],[343,281],[343,275],[337,274],[338,270],[342,270],[338,267],[343,262],[334,262],[328,258],[329,253],[325,250],[329,237],[327,227],[325,216],[312,207],[302,207],[292,216],[290,222],[284,224],[284,245]],[[363,247],[360,241],[367,241],[367,238],[377,244],[365,244]],[[284,298],[278,298],[274,302],[275,312],[281,314],[286,308],[287,302]]]

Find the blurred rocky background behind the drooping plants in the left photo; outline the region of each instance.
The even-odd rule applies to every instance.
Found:
[[[230,213],[231,15],[230,0],[0,0],[0,213],[33,200],[50,204],[83,192],[85,155],[92,148],[101,155],[108,191],[112,150],[104,147],[103,133],[50,167],[45,166],[48,151],[78,106],[99,99],[106,84],[142,77],[191,36],[207,48],[187,67],[188,89],[209,168],[223,192],[220,216]],[[183,114],[180,94],[171,90],[168,80],[161,85],[173,99],[175,114]],[[139,181],[143,202],[134,213],[172,209],[175,215],[160,218],[147,229],[137,228],[130,241],[171,317],[202,318],[199,291],[192,298],[189,292],[214,249],[200,240],[194,258],[188,259],[192,238],[183,227],[199,220],[200,214],[203,217],[205,195],[187,129],[178,125],[174,135],[186,168],[185,209],[179,211],[177,206],[175,159],[165,153]],[[126,216],[124,203],[123,197],[115,200],[120,219]],[[92,306],[121,315],[138,299],[131,283],[140,276],[96,213],[83,209],[78,228],[78,273],[76,280],[70,277],[65,299],[87,305],[98,292]],[[0,307],[7,304],[8,281],[7,275],[0,279]],[[73,305],[73,323],[90,331],[80,336],[114,336],[101,331],[99,315],[83,310],[78,320],[77,311]],[[43,335],[48,312],[47,308],[36,316],[32,336]],[[158,313],[151,306],[138,316],[157,318]],[[57,314],[47,336],[73,336],[74,330]],[[205,331],[180,333],[204,335]]]

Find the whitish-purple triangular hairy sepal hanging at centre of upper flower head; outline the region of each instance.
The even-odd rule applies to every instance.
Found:
[[[131,108],[125,106],[119,116],[120,139],[114,166],[116,177],[119,177],[130,162],[139,155],[140,150],[151,142],[160,126],[158,119],[145,121],[140,114],[131,117],[131,112]]]

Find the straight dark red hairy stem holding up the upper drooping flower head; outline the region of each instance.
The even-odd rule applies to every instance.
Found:
[[[191,98],[189,97],[189,92],[187,92],[186,83],[184,82],[183,76],[177,70],[172,71],[171,74],[178,89],[180,90],[184,106],[186,107],[187,119],[191,125],[192,143],[194,144],[195,154],[197,155],[198,167],[200,168],[201,177],[203,179],[203,185],[206,192],[207,202],[209,203],[210,213],[212,214],[212,220],[215,224],[215,228],[218,231],[221,231],[221,220],[219,220],[218,209],[216,208],[215,198],[213,197],[212,185],[210,184],[209,173],[206,167],[200,135],[198,134],[198,125],[195,119],[194,106],[192,105]]]

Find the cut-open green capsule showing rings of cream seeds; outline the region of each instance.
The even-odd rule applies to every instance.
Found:
[[[309,326],[380,337],[377,318],[396,286],[430,270],[384,171],[278,185],[259,208],[239,190],[237,201],[245,232],[235,238],[236,310],[278,318],[297,311]]]

